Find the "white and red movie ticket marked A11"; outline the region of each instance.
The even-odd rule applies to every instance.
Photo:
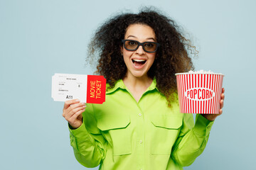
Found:
[[[54,101],[78,98],[81,103],[102,104],[106,96],[106,79],[102,76],[55,73],[51,95]]]

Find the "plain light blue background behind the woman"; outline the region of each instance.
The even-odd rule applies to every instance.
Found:
[[[255,1],[0,0],[0,169],[86,169],[73,156],[54,73],[85,66],[95,29],[114,13],[156,6],[200,51],[196,69],[225,74],[225,108],[203,154],[185,169],[255,167]],[[97,168],[95,168],[97,169]]]

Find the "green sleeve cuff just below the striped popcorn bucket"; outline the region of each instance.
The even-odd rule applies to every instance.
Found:
[[[210,121],[203,117],[201,114],[196,115],[196,123],[193,128],[193,132],[195,132],[198,136],[208,136],[210,134],[210,129],[213,126],[214,121]]]

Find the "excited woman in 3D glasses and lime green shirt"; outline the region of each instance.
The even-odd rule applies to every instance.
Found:
[[[198,114],[194,123],[192,114],[179,113],[174,74],[193,69],[186,48],[195,51],[174,21],[156,11],[121,14],[97,30],[90,56],[100,52],[106,101],[85,106],[72,100],[63,108],[80,164],[164,170],[193,163],[218,115]]]

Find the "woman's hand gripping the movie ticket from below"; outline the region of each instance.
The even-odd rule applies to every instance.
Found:
[[[82,125],[82,112],[85,111],[85,103],[80,103],[78,99],[65,101],[63,108],[63,117],[72,128],[76,129]]]

